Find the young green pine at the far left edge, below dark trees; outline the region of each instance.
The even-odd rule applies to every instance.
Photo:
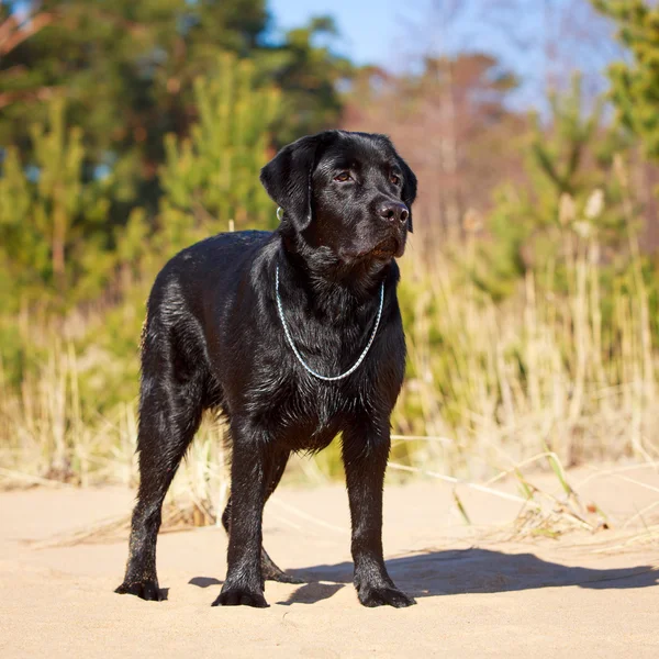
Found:
[[[34,159],[25,166],[9,147],[0,176],[0,299],[72,304],[98,294],[111,267],[111,178],[83,182],[82,133],[67,131],[62,100],[30,135]]]

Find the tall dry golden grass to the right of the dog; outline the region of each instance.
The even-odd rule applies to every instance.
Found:
[[[657,350],[640,260],[605,293],[599,245],[570,241],[567,291],[549,264],[500,305],[448,258],[406,264],[412,377],[395,424],[439,438],[412,450],[424,463],[481,478],[545,447],[568,466],[659,457]]]

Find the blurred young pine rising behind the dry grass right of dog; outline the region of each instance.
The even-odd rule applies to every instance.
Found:
[[[476,279],[494,297],[505,295],[529,267],[539,267],[562,248],[562,231],[596,234],[615,245],[625,236],[621,189],[614,156],[626,142],[602,121],[604,100],[587,111],[581,77],[569,92],[550,96],[550,123],[532,116],[523,139],[527,186],[503,185],[495,191],[490,217],[493,241],[483,247],[484,264]]]

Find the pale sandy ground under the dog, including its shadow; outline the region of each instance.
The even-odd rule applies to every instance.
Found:
[[[589,473],[571,474],[572,482]],[[623,478],[580,487],[610,514],[612,530],[558,540],[512,537],[518,505],[491,494],[460,490],[472,522],[466,526],[447,484],[388,487],[389,570],[418,602],[406,610],[358,604],[339,485],[282,488],[268,504],[266,547],[308,583],[268,582],[267,610],[210,606],[226,569],[221,529],[160,535],[158,571],[168,599],[143,602],[112,592],[122,579],[125,537],[57,541],[127,513],[131,491],[3,492],[0,657],[656,658],[657,536],[625,544],[643,527],[622,525],[659,501],[659,477],[645,469]]]

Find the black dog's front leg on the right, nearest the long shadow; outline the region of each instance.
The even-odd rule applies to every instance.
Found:
[[[382,488],[389,457],[389,428],[344,432],[343,459],[353,523],[355,588],[365,606],[415,604],[387,572],[382,555]]]

